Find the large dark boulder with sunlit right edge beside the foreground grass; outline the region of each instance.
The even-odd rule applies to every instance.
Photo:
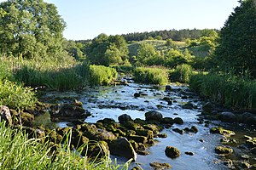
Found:
[[[114,156],[124,156],[127,159],[136,161],[137,153],[126,138],[116,139],[109,144],[110,153]]]

